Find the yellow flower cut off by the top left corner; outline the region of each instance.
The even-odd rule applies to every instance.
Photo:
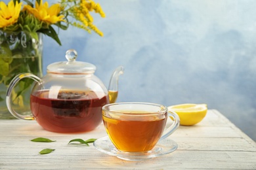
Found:
[[[22,3],[18,3],[14,5],[13,1],[8,3],[8,6],[1,1],[0,2],[0,27],[8,27],[9,25],[13,25],[18,22],[18,16],[20,15],[20,9],[22,7]]]

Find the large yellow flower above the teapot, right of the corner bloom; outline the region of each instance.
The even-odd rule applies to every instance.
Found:
[[[40,2],[40,5],[35,1],[35,8],[32,8],[30,5],[24,5],[23,10],[28,10],[33,14],[38,20],[42,22],[47,22],[49,24],[55,24],[60,21],[65,21],[63,15],[60,15],[60,4],[54,4],[49,7],[48,3],[43,3],[43,0]]]

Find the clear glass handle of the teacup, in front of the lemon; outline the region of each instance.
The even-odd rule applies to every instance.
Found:
[[[173,133],[180,125],[180,118],[176,112],[168,110],[167,116],[173,120],[173,124],[171,124],[170,127],[163,131],[163,135],[161,136],[160,141],[169,137],[169,135],[171,135],[171,133]]]

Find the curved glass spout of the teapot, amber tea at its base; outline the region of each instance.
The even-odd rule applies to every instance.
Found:
[[[123,66],[119,66],[113,72],[110,78],[110,84],[108,86],[108,97],[110,98],[110,103],[115,103],[118,95],[118,78],[122,75],[124,71]]]

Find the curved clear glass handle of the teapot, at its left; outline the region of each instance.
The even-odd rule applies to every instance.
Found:
[[[23,119],[23,120],[35,120],[35,118],[33,116],[24,116],[21,114],[18,114],[14,109],[12,109],[11,107],[11,92],[13,90],[13,88],[16,86],[16,84],[23,78],[32,78],[33,80],[35,80],[36,82],[41,82],[41,78],[39,78],[38,76],[35,76],[31,73],[21,73],[19,75],[16,75],[12,81],[9,84],[9,87],[7,88],[7,94],[6,94],[6,104],[7,104],[7,108],[9,110],[9,112],[11,112],[11,114],[19,119]]]

